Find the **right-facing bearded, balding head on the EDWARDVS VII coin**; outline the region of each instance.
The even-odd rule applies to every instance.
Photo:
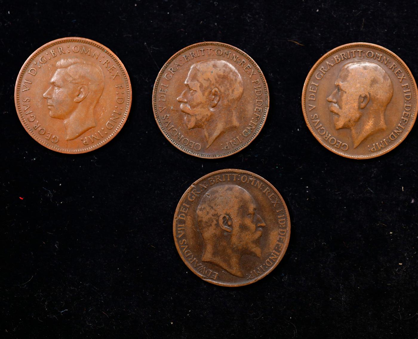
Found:
[[[242,255],[261,257],[260,237],[265,223],[247,190],[228,184],[204,194],[196,210],[204,242],[202,261],[210,262],[237,277],[244,277]]]

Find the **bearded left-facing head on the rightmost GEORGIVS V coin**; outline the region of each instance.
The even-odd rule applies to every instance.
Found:
[[[386,130],[385,110],[393,96],[386,71],[370,61],[350,62],[341,69],[334,92],[327,98],[336,130],[351,131],[354,148]]]

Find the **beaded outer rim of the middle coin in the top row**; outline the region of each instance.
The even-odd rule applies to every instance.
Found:
[[[263,117],[260,118],[260,120],[262,119],[263,121],[261,122],[260,126],[257,127],[257,133],[255,133],[254,135],[252,135],[252,137],[247,140],[247,142],[243,145],[241,145],[239,148],[234,149],[233,151],[230,152],[226,152],[226,153],[222,153],[222,154],[216,154],[216,155],[204,155],[204,154],[199,154],[196,152],[193,152],[191,150],[186,149],[185,147],[183,147],[182,145],[176,143],[176,141],[172,140],[172,138],[168,135],[168,133],[164,132],[163,127],[161,126],[161,120],[160,118],[157,116],[157,114],[155,112],[157,111],[157,88],[160,82],[160,79],[164,73],[164,71],[167,69],[167,67],[171,64],[172,61],[174,61],[174,59],[176,59],[178,56],[180,56],[181,54],[183,54],[185,51],[188,51],[191,48],[195,48],[198,46],[207,46],[207,45],[215,45],[215,46],[221,46],[221,47],[227,47],[232,49],[233,51],[236,51],[240,54],[242,54],[243,56],[245,56],[252,64],[253,66],[256,67],[258,73],[260,74],[260,78],[263,81],[263,85],[264,85],[264,89],[265,89],[265,96],[266,96],[266,105],[263,107],[264,108],[264,114]],[[260,67],[257,65],[257,63],[244,51],[240,50],[240,48],[237,48],[235,46],[229,45],[227,43],[223,43],[223,42],[217,42],[217,41],[203,41],[203,42],[199,42],[199,43],[194,43],[192,45],[189,45],[185,48],[182,48],[180,51],[178,51],[177,53],[173,54],[171,56],[170,59],[168,59],[168,61],[164,64],[164,66],[161,68],[161,70],[158,72],[158,76],[157,79],[155,79],[155,83],[154,83],[154,87],[153,87],[153,95],[152,95],[152,105],[153,105],[153,113],[154,113],[154,118],[155,118],[155,122],[157,122],[158,128],[161,130],[161,132],[163,133],[163,135],[166,137],[166,139],[172,144],[174,145],[177,149],[181,150],[184,153],[196,156],[198,158],[204,158],[204,159],[219,159],[219,158],[224,158],[227,157],[229,155],[232,155],[234,153],[240,152],[241,150],[243,150],[244,148],[246,148],[248,145],[250,145],[250,143],[252,142],[252,140],[254,140],[258,134],[260,133],[261,129],[263,128],[264,124],[265,124],[265,120],[267,119],[267,115],[268,115],[268,110],[270,108],[270,92],[268,91],[268,85],[267,85],[267,81],[265,79],[265,76],[263,74],[263,71],[261,71]]]

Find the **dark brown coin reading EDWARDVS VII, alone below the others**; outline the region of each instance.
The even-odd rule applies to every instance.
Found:
[[[225,169],[203,176],[183,194],[173,235],[181,259],[200,278],[228,287],[248,285],[282,260],[289,212],[267,180]]]

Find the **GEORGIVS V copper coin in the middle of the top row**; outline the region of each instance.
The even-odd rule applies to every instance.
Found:
[[[263,72],[240,49],[202,42],[174,54],[153,90],[161,132],[179,150],[222,158],[251,143],[264,125],[269,94]]]

